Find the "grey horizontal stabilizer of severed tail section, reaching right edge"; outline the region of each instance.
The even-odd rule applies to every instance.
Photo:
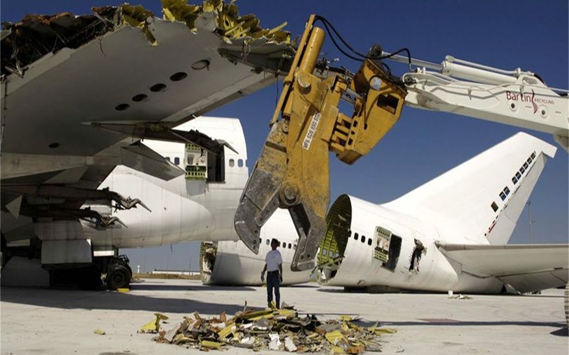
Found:
[[[569,279],[567,244],[440,244],[463,272],[497,277],[521,293],[563,286]]]

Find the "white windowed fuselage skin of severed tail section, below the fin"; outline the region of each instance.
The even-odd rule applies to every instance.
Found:
[[[407,290],[455,290],[471,293],[501,291],[502,282],[496,278],[478,278],[464,273],[460,264],[446,258],[436,247],[435,241],[456,241],[456,235],[441,232],[431,223],[384,206],[354,197],[346,198],[349,198],[351,203],[352,233],[347,239],[344,259],[337,273],[333,278],[322,280],[326,285],[381,285]],[[394,270],[384,267],[381,260],[373,257],[376,247],[374,233],[378,226],[401,237],[401,250]],[[409,270],[415,239],[420,240],[426,250],[421,255],[418,271]]]

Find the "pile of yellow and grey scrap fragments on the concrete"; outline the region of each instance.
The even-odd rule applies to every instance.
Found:
[[[140,332],[158,333],[158,343],[176,344],[201,350],[221,350],[228,346],[259,350],[285,350],[296,353],[326,352],[359,354],[381,351],[382,333],[393,329],[358,325],[349,316],[319,321],[314,315],[300,318],[292,307],[281,310],[245,310],[229,318],[223,312],[219,317],[202,318],[197,312],[185,316],[169,330],[160,328],[160,321],[168,317],[156,313],[156,318],[144,325]]]

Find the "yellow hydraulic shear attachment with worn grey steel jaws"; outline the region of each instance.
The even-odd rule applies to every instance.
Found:
[[[288,208],[299,234],[293,271],[314,267],[326,229],[328,152],[348,164],[368,153],[399,119],[405,85],[384,70],[372,47],[356,73],[325,70],[324,31],[311,15],[300,39],[270,132],[235,215],[241,240],[255,254],[259,232],[277,208]],[[351,115],[339,111],[344,100]]]

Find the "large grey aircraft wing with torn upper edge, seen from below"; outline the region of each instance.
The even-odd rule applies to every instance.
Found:
[[[125,4],[3,23],[2,207],[24,197],[12,215],[76,209],[88,196],[18,195],[11,185],[94,190],[116,165],[162,179],[184,173],[139,139],[222,154],[225,142],[172,128],[269,85],[281,56],[294,55],[286,23],[263,29],[218,0],[162,5],[164,18]]]

